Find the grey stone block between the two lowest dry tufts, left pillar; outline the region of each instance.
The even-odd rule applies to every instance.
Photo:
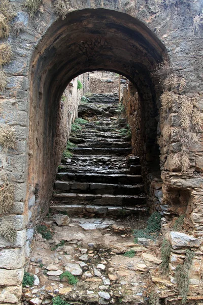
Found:
[[[5,215],[2,217],[1,223],[19,231],[26,227],[27,219],[27,215]]]

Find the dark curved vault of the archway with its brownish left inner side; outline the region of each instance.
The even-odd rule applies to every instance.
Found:
[[[51,25],[30,66],[29,200],[37,186],[37,202],[47,209],[64,146],[64,135],[58,129],[59,99],[71,79],[93,70],[125,75],[155,116],[160,93],[151,75],[165,57],[163,44],[147,26],[113,10],[74,11]],[[37,209],[38,204],[32,215]]]

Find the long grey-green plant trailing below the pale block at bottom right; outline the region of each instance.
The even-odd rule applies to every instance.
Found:
[[[194,252],[187,249],[183,265],[178,265],[175,272],[175,279],[178,284],[179,293],[182,296],[182,303],[187,301],[187,294],[189,290],[189,270],[192,264]]]

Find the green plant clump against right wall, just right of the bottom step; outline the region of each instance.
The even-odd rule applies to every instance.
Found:
[[[147,228],[134,230],[133,235],[136,237],[134,242],[138,242],[138,238],[154,239],[157,237],[161,229],[161,215],[159,212],[153,212],[147,222]]]

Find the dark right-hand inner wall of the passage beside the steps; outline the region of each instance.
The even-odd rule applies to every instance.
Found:
[[[132,83],[124,89],[122,104],[132,133],[132,152],[140,157],[147,204],[152,212],[159,209],[163,196],[157,144],[158,105],[152,103],[149,92],[141,98]]]

